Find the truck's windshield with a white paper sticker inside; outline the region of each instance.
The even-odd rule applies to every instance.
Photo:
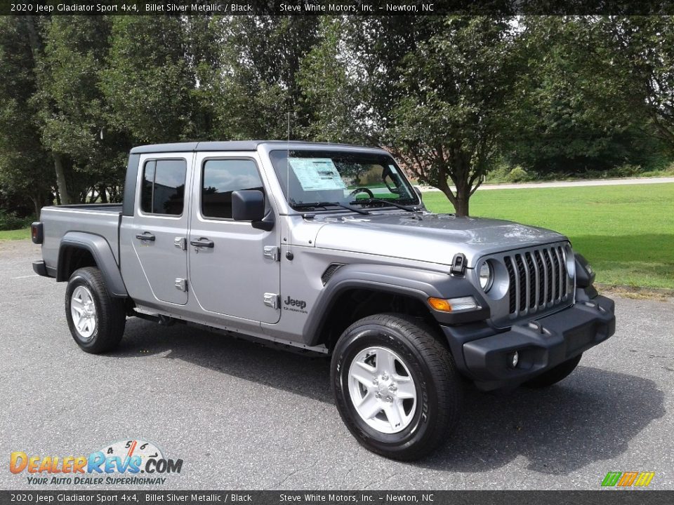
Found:
[[[270,159],[295,209],[329,204],[358,208],[420,204],[407,177],[385,154],[290,149],[272,151]]]

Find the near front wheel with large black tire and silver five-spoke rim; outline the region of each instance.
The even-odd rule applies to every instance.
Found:
[[[463,383],[454,359],[416,318],[378,314],[352,324],[333,351],[331,383],[349,431],[385,457],[424,457],[458,421]]]

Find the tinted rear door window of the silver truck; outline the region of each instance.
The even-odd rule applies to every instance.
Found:
[[[182,215],[186,173],[185,160],[145,162],[140,209],[146,214]]]

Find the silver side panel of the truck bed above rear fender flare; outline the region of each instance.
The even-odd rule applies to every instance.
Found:
[[[61,238],[70,231],[100,235],[110,244],[119,264],[119,222],[121,203],[80,203],[44,207],[40,221],[44,227],[42,257],[48,269],[55,269]]]

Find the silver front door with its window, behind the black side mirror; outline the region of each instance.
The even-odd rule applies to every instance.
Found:
[[[194,170],[187,241],[192,294],[204,311],[277,323],[281,311],[273,305],[280,287],[279,227],[264,231],[251,222],[232,220],[232,191],[265,191],[258,161],[240,154],[201,153]]]

